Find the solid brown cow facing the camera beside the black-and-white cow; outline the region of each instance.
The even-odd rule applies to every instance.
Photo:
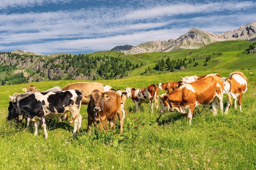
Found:
[[[115,116],[118,115],[120,122],[120,133],[123,132],[124,117],[122,116],[121,110],[121,96],[115,91],[100,92],[99,90],[94,90],[90,95],[88,104],[88,130],[91,132],[91,125],[97,126],[100,123],[100,130],[105,124],[105,121],[110,122],[110,128],[113,128],[113,120]]]

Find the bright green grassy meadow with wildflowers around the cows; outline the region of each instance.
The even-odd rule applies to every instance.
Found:
[[[162,73],[126,79],[101,80],[113,88],[143,88],[159,82],[173,82],[186,75],[220,73],[228,77],[235,69],[213,68],[204,71]],[[0,86],[0,169],[25,170],[253,170],[256,169],[256,73],[243,70],[249,89],[243,95],[243,113],[230,106],[227,115],[218,111],[213,116],[210,105],[195,109],[191,126],[177,111],[165,113],[156,122],[159,108],[150,114],[149,104],[135,112],[135,104],[127,99],[124,133],[115,129],[99,132],[87,130],[87,106],[81,106],[82,127],[71,136],[73,124],[47,120],[48,139],[33,125],[8,121],[9,95],[22,93],[29,84]],[[65,86],[75,80],[35,82],[40,91]],[[81,81],[80,81],[81,82]],[[159,90],[159,94],[164,91]],[[227,95],[224,97],[224,108]]]

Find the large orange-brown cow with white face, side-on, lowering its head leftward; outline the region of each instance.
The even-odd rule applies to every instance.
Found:
[[[160,96],[160,113],[173,112],[176,109],[184,113],[191,124],[195,107],[212,104],[213,115],[217,106],[223,111],[223,82],[218,75],[209,75],[203,79],[184,84],[168,95]],[[229,99],[231,99],[229,95]]]

